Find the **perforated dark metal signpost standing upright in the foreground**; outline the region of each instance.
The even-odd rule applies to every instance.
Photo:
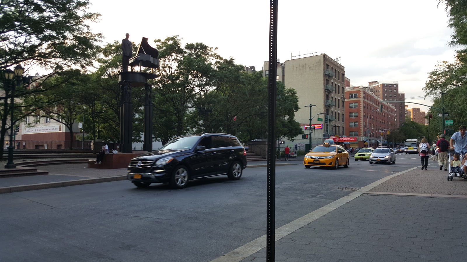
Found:
[[[268,77],[268,167],[266,208],[266,262],[275,261],[276,241],[276,74],[277,74],[277,0],[269,9],[269,77]]]

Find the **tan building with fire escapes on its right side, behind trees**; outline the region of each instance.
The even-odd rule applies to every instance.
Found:
[[[269,75],[269,62],[264,62],[264,76]],[[278,81],[286,88],[297,90],[300,109],[295,119],[300,125],[318,124],[313,131],[313,144],[322,142],[322,138],[345,135],[345,69],[339,62],[326,54],[277,62]],[[317,115],[318,113],[323,113]],[[315,116],[317,115],[317,116]],[[318,121],[318,118],[323,121]],[[319,128],[321,127],[321,128]],[[308,133],[308,131],[305,131]],[[297,140],[301,140],[298,138]]]

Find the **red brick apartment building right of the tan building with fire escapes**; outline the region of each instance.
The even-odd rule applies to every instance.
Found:
[[[396,109],[389,103],[382,103],[382,112],[379,112],[380,99],[375,96],[368,87],[350,86],[345,90],[345,123],[347,125],[346,135],[356,137],[352,147],[377,147],[386,140],[388,131],[395,130]],[[382,140],[382,142],[381,142]]]

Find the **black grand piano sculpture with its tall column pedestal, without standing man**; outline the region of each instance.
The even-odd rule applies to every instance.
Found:
[[[129,60],[130,72],[119,74],[119,84],[121,86],[120,105],[120,151],[122,153],[132,152],[132,131],[133,131],[133,109],[131,104],[131,88],[143,87],[144,95],[144,142],[143,151],[152,151],[152,87],[148,84],[148,79],[154,79],[153,69],[159,68],[159,53],[156,48],[149,46],[148,38],[143,37],[136,52],[136,56]],[[134,67],[139,67],[139,72],[133,71]],[[151,73],[142,72],[142,67],[150,68]]]

